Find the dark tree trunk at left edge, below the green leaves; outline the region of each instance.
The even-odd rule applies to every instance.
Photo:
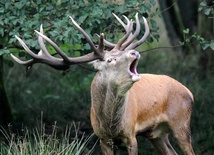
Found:
[[[12,121],[12,113],[4,88],[3,56],[0,56],[0,125],[7,127]]]

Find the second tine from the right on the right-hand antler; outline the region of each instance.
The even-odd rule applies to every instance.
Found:
[[[136,13],[135,15],[135,20],[136,20],[136,29],[134,34],[129,36],[129,38],[127,39],[127,41],[122,45],[121,50],[124,50],[125,48],[127,48],[129,45],[132,45],[132,42],[135,40],[135,38],[139,35],[140,33],[140,21],[138,18],[138,13]]]

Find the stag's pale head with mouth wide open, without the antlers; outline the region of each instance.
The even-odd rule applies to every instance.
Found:
[[[107,51],[103,60],[95,60],[92,64],[103,80],[120,85],[140,79],[136,69],[139,59],[140,54],[135,50],[113,50]]]

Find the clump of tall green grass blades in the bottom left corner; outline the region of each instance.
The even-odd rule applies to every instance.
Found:
[[[67,126],[62,138],[58,137],[56,124],[52,126],[50,134],[46,132],[44,124],[40,129],[35,128],[32,131],[23,129],[24,134],[16,135],[4,128],[0,132],[6,139],[0,144],[1,155],[90,155],[95,146],[90,149],[86,147],[93,134],[78,137],[78,128],[75,125]]]

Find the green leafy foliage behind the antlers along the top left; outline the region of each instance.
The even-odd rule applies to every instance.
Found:
[[[102,0],[55,0],[51,1],[7,1],[0,2],[0,36],[4,39],[0,54],[8,53],[8,49],[20,48],[15,35],[23,38],[35,52],[39,50],[34,30],[38,30],[40,24],[44,27],[47,36],[62,47],[65,52],[89,50],[83,36],[71,25],[68,15],[71,15],[78,24],[85,29],[90,37],[95,33],[106,33],[110,41],[118,40],[121,26],[115,25],[112,12],[133,17],[136,12],[150,18],[151,37],[158,40],[158,26],[152,19],[151,9],[156,6],[156,1],[128,1],[125,5],[104,3]],[[141,32],[143,33],[143,31]],[[92,37],[93,38],[93,37]],[[49,50],[51,47],[49,47]],[[7,51],[7,52],[6,52]],[[79,55],[79,54],[74,54]]]

